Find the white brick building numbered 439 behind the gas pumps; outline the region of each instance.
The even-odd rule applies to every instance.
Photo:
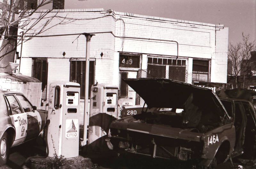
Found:
[[[41,12],[45,11],[35,12],[32,17]],[[52,81],[84,81],[81,61],[85,60],[86,38],[67,35],[80,33],[95,34],[90,47],[90,84],[97,81],[119,86],[120,104],[123,101],[136,104],[135,92],[127,90],[120,78],[157,76],[188,83],[227,81],[228,28],[224,25],[104,9],[53,10],[49,15],[56,12],[60,17],[77,20],[40,35],[66,36],[34,37],[24,42],[22,49],[20,72],[41,78],[45,86],[49,87]],[[48,27],[59,20],[54,18]],[[170,41],[179,43],[177,60],[177,44]]]

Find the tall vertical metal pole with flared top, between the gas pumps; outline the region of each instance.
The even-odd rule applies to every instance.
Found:
[[[83,141],[81,142],[82,146],[86,145],[86,141],[87,141],[87,119],[89,116],[88,113],[88,90],[89,90],[89,59],[90,59],[90,42],[91,42],[91,38],[92,38],[92,34],[87,34],[87,33],[83,33],[82,35],[84,35],[86,37],[86,56],[85,56],[85,91],[84,91],[84,137],[83,137]]]

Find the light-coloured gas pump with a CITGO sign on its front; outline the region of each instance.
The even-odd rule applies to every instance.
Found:
[[[49,88],[47,131],[48,157],[65,158],[78,156],[79,148],[79,98],[80,84],[54,82]],[[54,150],[55,148],[55,150]]]

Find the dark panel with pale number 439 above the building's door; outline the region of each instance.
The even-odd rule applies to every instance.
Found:
[[[126,56],[120,55],[119,67],[140,67],[140,56]]]

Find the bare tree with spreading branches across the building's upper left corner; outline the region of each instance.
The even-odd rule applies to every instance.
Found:
[[[10,40],[10,38],[17,40],[13,48],[20,45],[21,38],[19,36],[21,35],[13,36],[12,33],[10,33],[12,27],[15,27],[16,30],[22,30],[23,35],[30,36],[24,40],[25,42],[32,39],[34,35],[39,35],[56,25],[67,24],[75,20],[72,18],[59,17],[58,12],[52,14],[52,10],[37,12],[40,7],[50,4],[52,1],[53,0],[40,0],[34,9],[28,9],[24,7],[24,5],[20,5],[20,0],[5,0],[2,3],[2,14],[0,14],[0,52],[4,51],[4,46],[10,45],[8,42],[4,43],[4,41]],[[37,14],[33,15],[35,12],[37,12]],[[58,21],[54,22],[54,25],[49,24],[54,18],[58,18]],[[40,26],[36,26],[39,23]],[[0,56],[0,59],[5,55],[6,53]]]

